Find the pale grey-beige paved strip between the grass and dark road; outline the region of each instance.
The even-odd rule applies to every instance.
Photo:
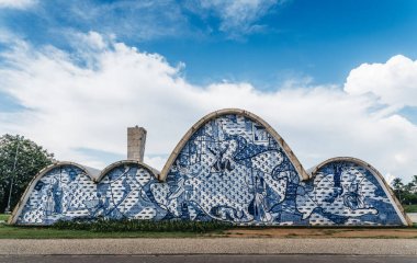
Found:
[[[0,239],[0,255],[243,253],[417,256],[417,239]]]

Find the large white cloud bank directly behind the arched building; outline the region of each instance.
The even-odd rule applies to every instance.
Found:
[[[79,64],[81,58],[72,54],[50,46],[33,49],[24,43],[2,54],[0,91],[29,110],[0,113],[0,134],[19,133],[58,159],[102,168],[109,163],[77,149],[125,155],[126,127],[137,124],[148,130],[145,160],[161,169],[167,155],[203,115],[240,107],[270,123],[306,168],[335,156],[353,156],[390,176],[408,180],[416,173],[416,125],[393,112],[381,114],[388,106],[352,92],[350,79],[346,91],[300,83],[271,92],[245,82],[195,87],[158,54],[95,33],[81,38],[90,41],[79,42],[79,56],[93,62]],[[100,48],[83,52],[91,47]],[[369,78],[361,68],[350,75],[357,76],[356,85],[364,85]],[[395,94],[396,82],[391,83]]]

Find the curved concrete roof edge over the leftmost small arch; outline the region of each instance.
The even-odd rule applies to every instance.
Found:
[[[29,183],[26,190],[23,192],[23,195],[22,197],[19,199],[16,206],[14,207],[13,209],[13,213],[11,215],[11,217],[9,218],[9,224],[15,224],[15,221],[18,220],[20,214],[22,213],[22,209],[24,207],[24,205],[26,204],[27,202],[27,198],[30,196],[30,194],[32,193],[33,188],[35,187],[36,183],[47,173],[49,172],[50,170],[53,170],[54,168],[57,168],[57,167],[61,167],[61,165],[74,165],[74,167],[77,167],[79,169],[81,169],[89,178],[92,182],[94,182],[94,175],[97,174],[92,174],[91,172],[97,172],[97,171],[100,171],[100,170],[97,170],[97,169],[92,169],[92,168],[88,168],[88,167],[84,167],[84,165],[81,165],[77,162],[69,162],[69,161],[57,161],[57,162],[54,162],[45,168],[43,168],[32,180],[31,182]]]

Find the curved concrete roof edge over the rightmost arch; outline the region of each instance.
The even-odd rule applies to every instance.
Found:
[[[404,211],[404,208],[397,197],[395,196],[393,190],[391,188],[390,184],[385,181],[384,176],[377,171],[373,165],[371,165],[369,162],[363,161],[361,159],[354,158],[354,157],[334,157],[329,158],[317,165],[308,169],[308,173],[311,178],[316,176],[317,172],[326,164],[330,162],[336,162],[336,161],[350,161],[353,163],[357,163],[359,165],[365,167],[369,169],[369,171],[375,176],[375,179],[379,181],[381,184],[382,188],[384,190],[386,196],[390,198],[391,203],[394,205],[395,210],[397,211],[398,216],[401,215],[403,218],[402,221],[404,225],[413,226],[412,220],[408,218],[407,214]]]

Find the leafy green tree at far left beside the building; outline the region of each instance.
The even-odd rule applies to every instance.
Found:
[[[0,137],[0,211],[18,204],[31,180],[54,161],[54,155],[19,135]],[[11,192],[10,192],[11,190]]]

